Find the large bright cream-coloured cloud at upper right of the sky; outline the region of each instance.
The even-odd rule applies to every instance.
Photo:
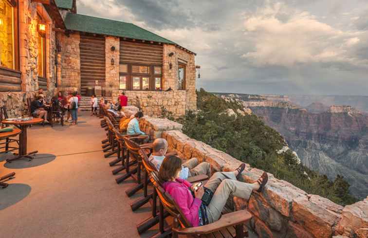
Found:
[[[283,16],[284,20],[278,18]],[[257,66],[344,62],[364,65],[349,54],[360,32],[342,31],[318,21],[311,13],[288,8],[285,4],[267,5],[244,20],[245,36],[254,51],[242,57]],[[344,43],[345,42],[345,43]]]

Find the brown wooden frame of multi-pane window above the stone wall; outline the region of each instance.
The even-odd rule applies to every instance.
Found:
[[[122,62],[119,65],[127,64],[128,65],[128,72],[120,72],[119,71],[119,90],[126,90],[126,91],[161,91],[162,90],[162,65],[148,65],[148,64],[140,64],[140,63],[126,63]],[[133,73],[132,66],[147,66],[149,67],[149,73]],[[155,74],[154,67],[161,67],[161,74]],[[120,76],[126,76],[126,89],[120,89]],[[139,77],[139,89],[133,89],[133,77]],[[143,78],[148,78],[148,90],[143,89]],[[156,90],[155,85],[155,78],[161,78],[161,90]]]

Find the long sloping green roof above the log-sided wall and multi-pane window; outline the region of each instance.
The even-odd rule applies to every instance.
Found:
[[[176,44],[171,40],[160,37],[139,26],[123,21],[68,13],[64,23],[68,30]]]

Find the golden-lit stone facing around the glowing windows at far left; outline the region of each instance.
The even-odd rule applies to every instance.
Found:
[[[6,106],[10,117],[21,116],[26,113],[26,98],[34,97],[38,90],[37,76],[37,7],[42,10],[42,5],[32,0],[19,0],[19,57],[21,72],[22,92],[0,92],[0,106]],[[47,15],[47,11],[40,11],[46,20],[46,77],[50,97],[55,89],[55,32],[52,30],[54,22]]]

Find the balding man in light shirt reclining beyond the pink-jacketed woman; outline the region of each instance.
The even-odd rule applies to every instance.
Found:
[[[160,166],[165,159],[165,154],[167,152],[168,144],[163,138],[158,138],[154,140],[153,152],[149,156],[149,161],[155,165],[157,170],[160,170]],[[183,163],[183,168],[180,171],[180,178],[187,179],[192,176],[197,176],[200,174],[205,174],[208,177],[211,176],[211,166],[207,162],[202,162],[198,164],[197,158],[191,158],[190,160]]]

